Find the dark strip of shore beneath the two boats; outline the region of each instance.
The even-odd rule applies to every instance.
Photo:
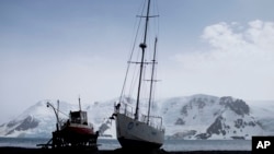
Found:
[[[251,151],[157,151],[144,150],[83,150],[83,149],[34,149],[34,147],[16,147],[16,146],[0,146],[1,154],[52,154],[52,153],[81,153],[81,154],[128,154],[128,153],[151,153],[151,154],[251,154]]]

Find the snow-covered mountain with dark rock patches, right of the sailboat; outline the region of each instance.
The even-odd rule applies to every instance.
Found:
[[[264,107],[267,108],[266,105]],[[274,122],[274,115],[271,115],[274,108],[265,112],[229,96],[171,98],[163,102],[161,109],[168,138],[251,139],[252,135],[274,134],[274,126],[271,125]]]

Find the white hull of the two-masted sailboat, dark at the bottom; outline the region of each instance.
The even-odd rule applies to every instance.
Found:
[[[125,114],[116,114],[116,134],[123,147],[160,147],[164,141],[164,131],[134,120]]]

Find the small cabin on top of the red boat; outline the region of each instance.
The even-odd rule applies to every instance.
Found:
[[[70,120],[71,123],[87,125],[88,126],[87,111],[82,111],[82,110],[70,111],[69,120]]]

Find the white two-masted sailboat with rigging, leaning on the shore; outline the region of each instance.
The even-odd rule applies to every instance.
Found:
[[[159,15],[150,15],[151,0],[146,1],[144,14],[139,19],[145,19],[145,32],[140,38],[139,44],[140,55],[136,61],[133,61],[133,52],[129,56],[128,68],[126,71],[126,78],[123,84],[122,94],[119,100],[114,105],[114,114],[111,117],[116,122],[116,135],[122,147],[149,147],[159,149],[164,141],[164,128],[162,127],[162,117],[155,116],[153,114],[153,96],[155,96],[155,83],[156,66],[157,66],[157,37],[155,37],[155,44],[151,46],[152,51],[148,49],[147,38],[149,31],[149,19],[158,17]],[[141,23],[141,22],[140,22]],[[149,51],[150,54],[149,54]],[[150,58],[148,58],[150,55]],[[125,95],[126,83],[128,82],[128,74],[130,66],[137,66],[138,74],[135,73],[133,79],[137,82],[135,90],[136,99]],[[148,69],[150,72],[148,73]],[[145,91],[145,84],[148,85],[148,91]],[[133,85],[130,85],[132,87]],[[142,95],[147,95],[146,98],[141,98]],[[142,106],[140,105],[142,104]],[[145,105],[144,105],[145,104]],[[132,105],[135,105],[135,109]],[[146,114],[141,112],[146,108]]]

